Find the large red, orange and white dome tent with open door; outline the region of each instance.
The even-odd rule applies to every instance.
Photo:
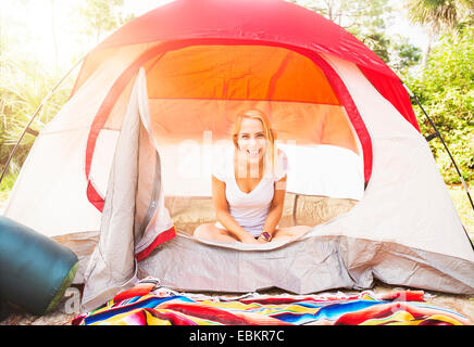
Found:
[[[300,237],[186,232],[212,218],[212,165],[245,108],[269,114],[287,153],[286,222],[313,227]],[[313,218],[324,208],[338,216]],[[177,0],[107,38],[4,215],[79,256],[85,308],[144,275],[186,291],[304,294],[378,279],[474,293],[473,248],[401,81],[342,28],[279,0]]]

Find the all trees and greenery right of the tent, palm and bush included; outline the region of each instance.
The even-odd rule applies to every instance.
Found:
[[[469,15],[474,0],[404,1],[412,21],[424,25],[428,31],[448,33],[433,50],[427,67],[416,77],[410,74],[417,67],[422,52],[408,38],[387,35],[385,28],[391,20],[387,0],[290,1],[342,26],[401,76],[433,117],[464,179],[474,180],[474,40],[473,20]],[[422,132],[432,133],[434,130],[426,117],[417,106],[414,110]],[[432,140],[429,145],[446,181],[459,183],[459,177],[440,141]]]

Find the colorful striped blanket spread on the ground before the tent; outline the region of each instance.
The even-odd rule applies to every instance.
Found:
[[[452,310],[426,304],[422,291],[358,295],[294,296],[248,294],[215,297],[160,288],[145,295],[121,293],[80,314],[75,325],[469,325]]]

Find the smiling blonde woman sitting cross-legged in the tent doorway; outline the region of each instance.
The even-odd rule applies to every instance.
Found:
[[[201,224],[195,236],[221,242],[266,243],[301,235],[307,226],[278,228],[286,193],[286,155],[274,145],[265,114],[249,110],[237,116],[235,149],[212,174],[217,222]]]

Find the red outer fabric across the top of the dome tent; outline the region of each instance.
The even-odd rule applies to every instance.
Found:
[[[279,0],[180,0],[162,5],[124,25],[100,43],[86,59],[74,90],[103,61],[102,54],[108,49],[157,41],[190,40],[199,44],[202,39],[286,44],[353,62],[419,129],[400,79],[374,52],[322,15]]]

